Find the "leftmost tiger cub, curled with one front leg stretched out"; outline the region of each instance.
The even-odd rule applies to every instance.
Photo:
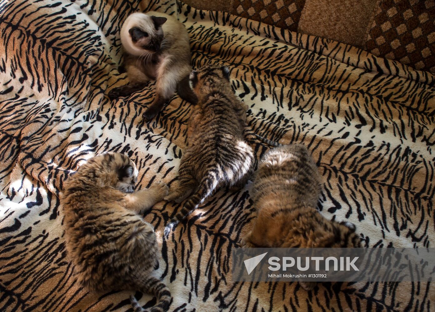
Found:
[[[152,311],[167,311],[171,293],[151,276],[158,259],[154,228],[138,213],[168,193],[165,183],[133,193],[134,163],[119,153],[93,157],[65,182],[61,196],[67,252],[77,280],[91,291],[131,289],[159,300]],[[134,295],[135,312],[145,311]]]

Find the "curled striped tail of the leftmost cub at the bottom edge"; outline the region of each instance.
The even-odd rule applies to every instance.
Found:
[[[150,309],[144,309],[141,307],[139,302],[137,302],[134,295],[130,296],[131,306],[134,312],[166,312],[171,304],[171,292],[169,288],[160,279],[154,276],[149,276],[144,281],[142,289],[139,289],[144,293],[152,293],[157,297],[157,305],[154,305]]]

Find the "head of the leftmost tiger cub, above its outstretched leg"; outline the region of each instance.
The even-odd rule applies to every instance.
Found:
[[[77,173],[73,178],[95,180],[96,185],[111,186],[124,193],[133,193],[138,175],[136,165],[120,153],[92,157]]]

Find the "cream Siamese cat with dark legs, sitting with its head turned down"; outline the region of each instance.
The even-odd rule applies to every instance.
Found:
[[[176,89],[181,98],[195,103],[188,85],[192,71],[189,36],[182,23],[160,12],[133,13],[121,28],[121,43],[130,83],[111,90],[111,99],[128,96],[156,80],[154,101],[142,115],[145,120],[153,119]]]

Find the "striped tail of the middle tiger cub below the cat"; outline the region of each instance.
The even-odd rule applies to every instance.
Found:
[[[219,179],[212,172],[206,174],[206,176],[201,180],[199,186],[193,195],[187,199],[181,211],[177,213],[174,218],[171,219],[171,222],[164,229],[164,236],[168,236],[171,230],[175,229],[178,223],[182,222],[189,216],[195,209],[201,205],[208,196],[213,193],[214,189],[218,186]]]

